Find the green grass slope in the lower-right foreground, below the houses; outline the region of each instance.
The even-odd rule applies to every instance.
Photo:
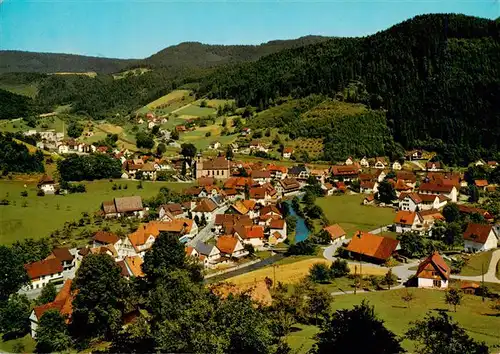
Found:
[[[401,300],[406,289],[336,296],[332,308],[335,310],[352,308],[353,305],[358,305],[366,299],[375,307],[377,316],[385,321],[387,328],[399,336],[410,327],[410,322],[422,319],[427,312],[436,312],[438,309],[449,310],[444,302],[442,291],[426,289],[410,289],[409,291],[415,296],[410,308],[407,308]],[[458,306],[457,312],[452,310],[448,312],[453,320],[464,327],[471,337],[486,342],[490,348],[500,345],[498,317],[492,315],[489,301],[483,303],[478,296],[465,295],[462,303],[463,305]],[[297,350],[297,353],[307,353],[314,344],[313,337],[318,330],[314,326],[298,325],[296,327],[298,331],[289,334],[287,342],[292,350]],[[403,341],[403,347],[409,352],[415,349],[414,344],[408,340]]]

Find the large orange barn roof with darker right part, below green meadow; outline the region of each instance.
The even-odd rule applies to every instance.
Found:
[[[347,250],[380,260],[387,260],[399,245],[399,241],[368,232],[356,232]]]

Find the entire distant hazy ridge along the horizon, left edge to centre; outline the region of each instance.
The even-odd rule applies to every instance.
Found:
[[[144,59],[0,50],[0,73],[96,72],[110,74],[134,67],[203,68],[257,60],[283,49],[296,48],[327,39],[328,37],[322,36],[305,36],[297,39],[275,40],[260,45],[212,45],[183,42],[162,49]]]

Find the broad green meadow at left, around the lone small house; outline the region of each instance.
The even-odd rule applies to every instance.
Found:
[[[117,180],[117,184],[127,185],[128,189],[112,190],[115,182],[101,180],[85,182],[87,193],[38,197],[36,182],[28,182],[27,188],[24,188],[24,183],[26,182],[0,181],[0,199],[10,201],[10,205],[0,206],[0,244],[10,244],[28,237],[48,236],[66,221],[78,220],[82,212],[97,211],[104,200],[130,195],[149,198],[156,195],[163,186],[174,190],[190,186],[185,183],[144,182],[144,188],[137,189],[137,181]],[[24,190],[28,191],[28,197],[20,195]]]

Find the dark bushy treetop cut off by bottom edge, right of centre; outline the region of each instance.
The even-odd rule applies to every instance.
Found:
[[[404,353],[400,340],[365,300],[352,310],[337,310],[320,328],[313,349],[316,354]]]

